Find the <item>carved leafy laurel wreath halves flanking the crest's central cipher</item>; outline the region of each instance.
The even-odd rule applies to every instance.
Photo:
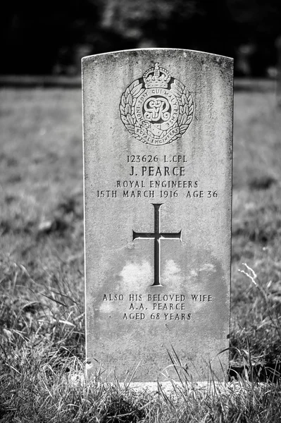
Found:
[[[170,86],[170,90],[177,97],[177,101],[180,106],[180,113],[177,118],[177,122],[173,128],[180,128],[180,133],[175,134],[169,142],[173,142],[178,138],[182,137],[190,123],[192,122],[194,114],[194,102],[192,94],[187,90],[187,87],[182,84],[177,79],[174,79]],[[137,122],[135,116],[135,104],[137,98],[145,91],[145,88],[142,85],[142,82],[135,80],[132,84],[127,87],[125,92],[123,92],[120,102],[120,117],[123,121],[125,127],[131,135],[133,135],[137,140],[144,142],[143,138],[135,132],[135,127],[141,127]]]

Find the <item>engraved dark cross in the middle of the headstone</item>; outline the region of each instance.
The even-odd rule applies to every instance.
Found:
[[[160,266],[161,266],[161,259],[160,259],[160,250],[161,250],[161,243],[160,241],[163,239],[170,239],[182,240],[182,231],[180,232],[161,232],[160,231],[160,208],[163,204],[153,204],[154,207],[154,232],[135,232],[132,231],[132,240],[137,238],[140,239],[152,239],[154,240],[154,283],[151,286],[161,286],[160,283]]]

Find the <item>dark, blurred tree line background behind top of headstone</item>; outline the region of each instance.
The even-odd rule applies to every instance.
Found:
[[[0,23],[2,74],[72,75],[89,54],[174,47],[263,76],[277,63],[281,0],[11,0]]]

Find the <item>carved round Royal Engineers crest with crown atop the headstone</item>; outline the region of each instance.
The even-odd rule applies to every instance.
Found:
[[[155,63],[123,92],[120,114],[137,140],[163,145],[185,133],[192,122],[194,102],[187,87]]]

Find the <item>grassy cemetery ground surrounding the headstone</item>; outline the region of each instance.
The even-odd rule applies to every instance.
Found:
[[[281,111],[273,85],[249,88],[235,90],[233,381],[220,394],[214,374],[209,389],[187,388],[182,368],[173,396],[75,379],[85,369],[81,91],[1,90],[1,422],[280,422]]]

